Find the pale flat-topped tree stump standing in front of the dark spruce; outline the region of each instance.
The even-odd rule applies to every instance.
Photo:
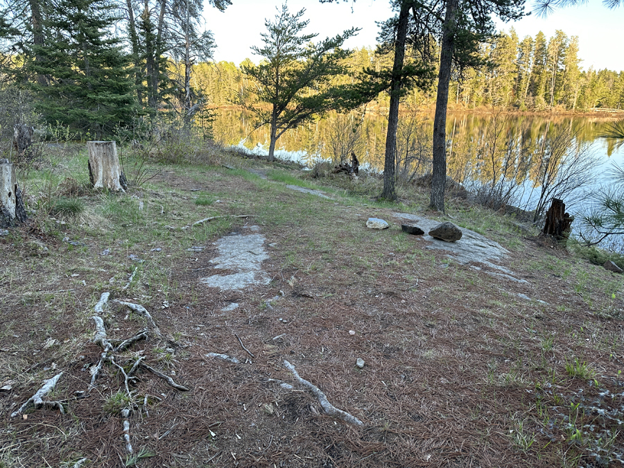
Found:
[[[121,172],[114,141],[87,141],[89,149],[89,180],[94,189],[125,192],[128,182]]]

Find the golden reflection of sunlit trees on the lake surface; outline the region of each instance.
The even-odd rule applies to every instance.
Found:
[[[344,116],[343,116],[344,117]],[[349,114],[346,117],[351,125],[340,121],[341,116],[330,114],[324,119],[307,123],[295,130],[288,130],[277,141],[277,148],[281,155],[306,164],[313,164],[319,158],[336,159],[336,148],[331,145],[331,139],[335,139],[336,127],[342,130],[351,130],[358,133],[355,144],[356,154],[362,162],[370,164],[376,170],[383,169],[383,156],[385,151],[385,133],[387,130],[387,117],[383,113],[367,112],[365,116]],[[458,171],[458,167],[465,165],[465,156],[461,151],[466,146],[484,142],[487,137],[487,129],[491,128],[496,120],[505,121],[505,137],[515,141],[519,146],[531,146],[539,141],[555,135],[561,129],[568,129],[576,136],[576,139],[591,146],[591,151],[600,155],[600,164],[609,160],[618,159],[621,154],[614,148],[614,142],[605,139],[596,139],[596,135],[605,129],[612,119],[583,116],[532,116],[532,115],[492,115],[492,114],[449,114],[447,119],[447,137],[449,138],[449,173]],[[408,125],[411,124],[411,125]],[[214,137],[217,141],[227,146],[241,145],[249,150],[261,152],[268,148],[269,128],[265,125],[254,129],[253,115],[250,112],[239,109],[220,109],[217,111],[214,121]],[[426,146],[422,141],[423,135],[433,133],[433,114],[406,110],[401,114],[399,129],[399,146],[401,146],[401,130],[404,134],[404,146],[409,146],[406,140],[415,137],[418,131],[422,135],[420,145]],[[408,128],[406,128],[406,126]],[[343,135],[346,135],[343,132]],[[402,148],[404,153],[409,153],[409,148]],[[399,148],[399,153],[401,148]],[[290,153],[293,153],[292,155]],[[476,153],[472,153],[476,157]],[[477,165],[474,161],[474,166]],[[428,171],[428,166],[422,165],[422,172]],[[419,171],[420,172],[420,171]],[[457,174],[456,174],[457,175]]]

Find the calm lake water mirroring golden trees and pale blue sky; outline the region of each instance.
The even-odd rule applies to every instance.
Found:
[[[607,173],[613,163],[624,166],[624,150],[618,151],[613,141],[597,137],[612,121],[593,116],[449,113],[448,173],[472,187],[487,186],[496,180],[502,185],[515,185],[512,202],[531,210],[544,185],[544,172],[556,172],[576,156],[580,162],[590,163],[591,183],[564,197],[574,214],[587,202],[588,188],[599,190],[609,183]],[[330,114],[284,133],[277,140],[276,155],[313,166],[322,159],[337,164],[353,150],[361,164],[381,172],[386,130],[387,117],[383,113]],[[433,114],[415,110],[401,113],[397,136],[399,173],[409,178],[431,171],[432,134]],[[241,110],[219,110],[214,137],[225,145],[268,153],[268,125],[254,130],[252,114]]]

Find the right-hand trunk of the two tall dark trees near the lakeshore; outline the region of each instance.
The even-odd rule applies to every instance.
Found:
[[[455,49],[457,6],[458,0],[449,0],[444,15],[440,72],[437,75],[437,98],[433,118],[433,176],[429,206],[442,212],[444,212],[444,184],[447,182],[447,103]]]

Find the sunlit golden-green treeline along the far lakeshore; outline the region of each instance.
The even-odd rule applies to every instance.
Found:
[[[522,40],[513,28],[500,33],[492,44],[482,45],[483,67],[465,70],[462,76],[456,71],[449,106],[456,110],[494,106],[520,112],[624,111],[624,71],[583,69],[578,48],[578,37],[568,37],[563,31],[550,38],[540,32]],[[388,67],[392,55],[363,47],[354,50],[347,62],[356,74],[366,67]],[[201,63],[193,72],[193,86],[210,105],[225,107],[244,101],[248,85],[241,67],[233,62]],[[389,100],[387,93],[380,94],[372,106],[388,107]],[[435,80],[428,89],[412,89],[404,102],[432,106]]]

